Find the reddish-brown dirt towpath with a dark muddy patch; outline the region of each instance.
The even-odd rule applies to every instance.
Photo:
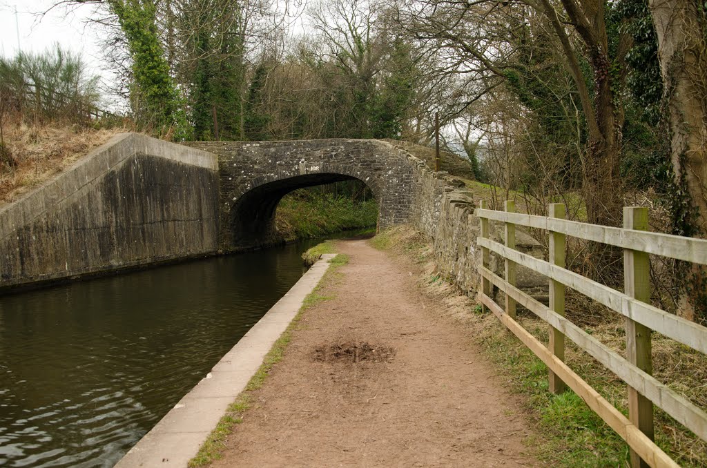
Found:
[[[527,426],[462,327],[365,240],[305,313],[216,467],[529,467]]]

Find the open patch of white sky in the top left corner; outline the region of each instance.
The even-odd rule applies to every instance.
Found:
[[[104,69],[98,47],[99,31],[87,23],[95,6],[59,6],[40,17],[52,4],[54,0],[0,0],[0,55],[13,57],[18,43],[24,52],[43,52],[59,42],[81,55],[90,74],[101,76],[104,84],[111,83],[112,74]]]

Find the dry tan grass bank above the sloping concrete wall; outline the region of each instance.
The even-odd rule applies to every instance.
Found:
[[[90,129],[78,125],[28,126],[19,119],[4,122],[4,157],[0,160],[0,205],[66,170],[81,156],[122,128]]]

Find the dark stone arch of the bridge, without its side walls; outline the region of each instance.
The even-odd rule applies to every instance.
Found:
[[[327,139],[194,142],[218,156],[219,249],[261,247],[279,240],[277,204],[294,189],[358,179],[378,200],[378,227],[409,223],[421,161],[385,141]]]

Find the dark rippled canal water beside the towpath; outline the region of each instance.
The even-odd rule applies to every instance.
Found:
[[[0,466],[112,467],[319,241],[0,297]]]

